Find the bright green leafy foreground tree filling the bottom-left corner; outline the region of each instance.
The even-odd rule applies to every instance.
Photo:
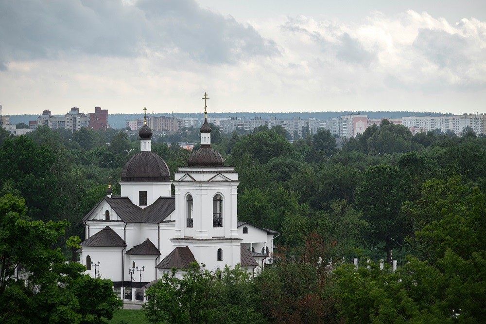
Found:
[[[100,323],[121,306],[111,280],[89,277],[51,248],[67,225],[28,220],[24,199],[0,198],[0,322]]]

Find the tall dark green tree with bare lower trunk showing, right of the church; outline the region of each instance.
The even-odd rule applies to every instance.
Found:
[[[356,191],[356,205],[369,224],[369,243],[385,242],[388,263],[392,262],[390,250],[395,240],[403,243],[412,233],[410,221],[401,212],[409,192],[402,171],[385,164],[369,167]]]

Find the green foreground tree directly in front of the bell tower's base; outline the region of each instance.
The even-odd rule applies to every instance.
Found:
[[[182,278],[164,273],[162,278],[146,290],[149,296],[142,307],[153,323],[207,323],[215,301],[211,298],[215,276],[203,266],[192,262]]]

